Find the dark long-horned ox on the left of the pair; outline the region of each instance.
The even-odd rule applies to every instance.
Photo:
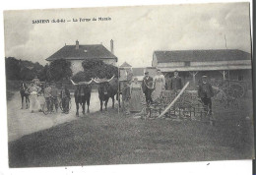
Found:
[[[75,89],[75,103],[76,103],[76,116],[79,117],[79,104],[82,105],[82,109],[83,109],[83,114],[86,114],[86,110],[85,110],[85,105],[87,103],[88,109],[87,112],[90,113],[90,99],[91,99],[91,92],[92,92],[92,86],[91,84],[93,83],[93,79],[90,82],[80,82],[78,84],[74,83],[71,80],[72,84],[74,86],[76,86]]]

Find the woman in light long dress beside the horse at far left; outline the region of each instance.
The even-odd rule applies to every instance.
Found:
[[[31,84],[31,87],[28,87],[28,91],[31,94],[31,107],[30,110],[33,112],[40,110],[40,103],[38,100],[37,93],[41,90],[40,87],[35,86],[33,83]]]

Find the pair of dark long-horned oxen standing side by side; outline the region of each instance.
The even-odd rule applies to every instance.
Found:
[[[118,79],[114,78],[114,76],[107,79],[92,79],[89,82],[80,82],[74,83],[71,80],[72,84],[76,87],[75,89],[75,102],[76,102],[76,115],[79,116],[79,105],[82,106],[82,113],[86,113],[86,104],[87,104],[87,112],[90,113],[90,99],[92,92],[92,85],[98,85],[98,98],[100,101],[100,111],[102,111],[102,106],[104,103],[105,110],[107,110],[107,102],[109,98],[112,98],[112,108],[114,108],[114,95],[116,95],[116,99],[119,101],[119,93],[118,93]],[[120,104],[120,101],[119,101]]]

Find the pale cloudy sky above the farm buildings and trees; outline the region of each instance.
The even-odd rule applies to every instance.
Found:
[[[111,18],[110,21],[32,24],[32,20]],[[39,62],[65,44],[102,43],[118,65],[152,65],[156,50],[240,49],[251,52],[249,3],[182,4],[5,11],[5,56]]]

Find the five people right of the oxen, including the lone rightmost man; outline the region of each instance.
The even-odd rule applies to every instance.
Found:
[[[149,72],[145,72],[142,84],[138,82],[138,78],[136,77],[132,81],[124,83],[124,87],[122,88],[123,111],[126,114],[141,112],[144,96],[147,105],[150,105],[160,97],[162,91],[173,90],[177,94],[182,87],[183,82],[178,75],[178,71],[174,71],[173,77],[168,80],[165,80],[160,70],[157,70],[157,75],[154,78],[149,75]],[[203,76],[202,81],[199,83],[198,96],[201,98],[203,104],[208,107],[210,113],[212,113],[211,98],[214,96],[214,92],[213,87],[208,82],[207,76]]]

